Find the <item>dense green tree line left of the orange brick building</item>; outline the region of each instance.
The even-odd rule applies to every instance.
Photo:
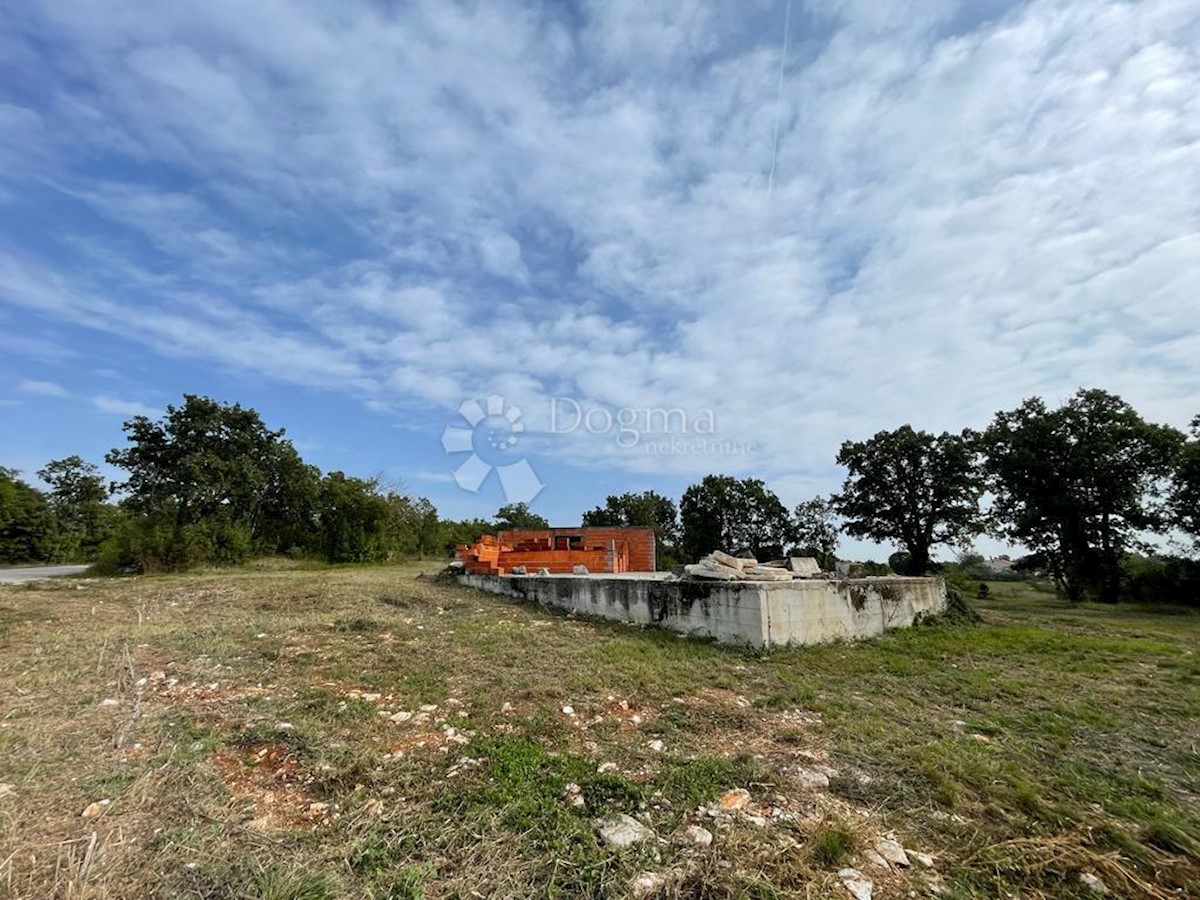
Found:
[[[106,455],[108,484],[78,456],[0,469],[0,562],[98,562],[112,571],[228,565],[256,556],[331,563],[440,557],[492,522],[449,522],[380,478],[322,473],[282,430],[239,404],[185,395],[161,420],[136,416]]]

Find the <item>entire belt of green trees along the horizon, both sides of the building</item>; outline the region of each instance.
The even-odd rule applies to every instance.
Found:
[[[524,504],[492,520],[443,520],[427,498],[379,478],[322,473],[240,404],[185,395],[160,420],[136,416],[122,428],[126,445],[106,455],[122,481],[107,484],[78,456],[37,472],[47,491],[0,468],[0,562],[100,560],[114,571],[271,554],[380,562],[547,526]],[[937,547],[991,534],[1028,548],[1026,568],[1072,600],[1136,594],[1133,570],[1141,593],[1178,593],[1182,582],[1200,594],[1193,560],[1139,556],[1154,535],[1186,535],[1200,550],[1200,416],[1184,434],[1116,395],[1081,390],[1058,407],[1027,400],[983,431],[905,425],[847,440],[836,462],[841,491],[792,510],[761,479],[707,475],[678,504],[655,491],[610,496],[582,524],[652,526],[662,568],[720,548],[816,556],[828,569],[847,534],[898,547],[893,569],[914,575],[934,566]]]

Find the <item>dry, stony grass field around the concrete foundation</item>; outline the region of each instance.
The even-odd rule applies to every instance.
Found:
[[[1200,616],[995,584],[764,655],[418,571],[0,588],[0,894],[1200,895]]]

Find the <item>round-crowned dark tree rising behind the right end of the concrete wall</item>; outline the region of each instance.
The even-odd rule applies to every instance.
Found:
[[[847,440],[838,462],[848,470],[833,498],[856,538],[899,544],[910,571],[929,570],[930,552],[982,530],[983,478],[976,466],[974,436],[940,436],[905,425],[868,440]]]

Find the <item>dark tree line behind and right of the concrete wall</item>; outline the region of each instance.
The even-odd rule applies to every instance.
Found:
[[[584,523],[654,524],[667,558],[803,552],[826,568],[844,533],[898,546],[890,562],[908,575],[928,572],[938,546],[990,534],[1028,548],[1024,568],[1073,601],[1156,590],[1200,601],[1200,564],[1156,552],[1152,540],[1177,534],[1200,550],[1200,416],[1186,434],[1114,394],[1080,390],[1058,407],[1027,400],[983,431],[905,425],[847,440],[836,461],[841,491],[791,512],[758,479],[709,475],[678,511],[654,492],[619,494]]]

